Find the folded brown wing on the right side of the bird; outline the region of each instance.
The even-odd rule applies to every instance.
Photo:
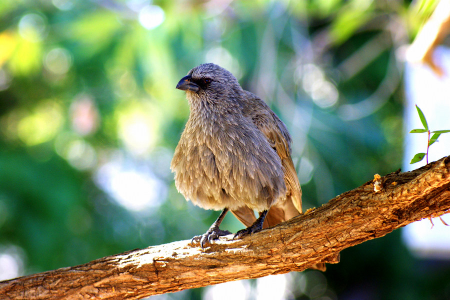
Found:
[[[272,226],[301,213],[301,188],[290,157],[291,139],[284,123],[264,101],[249,92],[246,100],[243,105],[243,115],[251,119],[253,124],[267,138],[267,141],[280,157],[284,171],[284,182],[287,188],[286,201],[278,201],[271,206],[265,224]]]

